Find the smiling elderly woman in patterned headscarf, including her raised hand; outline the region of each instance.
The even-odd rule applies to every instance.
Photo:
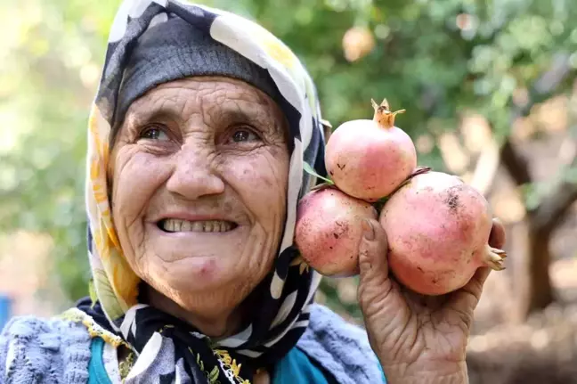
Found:
[[[88,131],[93,299],[12,320],[0,382],[467,382],[486,269],[421,297],[388,274],[386,233],[367,222],[351,255],[366,331],[313,303],[320,275],[292,238],[326,135],[313,82],[264,29],[175,0],[122,4]]]

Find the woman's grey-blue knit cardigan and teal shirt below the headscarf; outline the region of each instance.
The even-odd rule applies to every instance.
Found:
[[[0,333],[0,383],[110,384],[94,373],[105,372],[99,343],[82,323],[15,317]],[[309,326],[272,378],[273,384],[386,383],[366,332],[319,305],[311,306]]]

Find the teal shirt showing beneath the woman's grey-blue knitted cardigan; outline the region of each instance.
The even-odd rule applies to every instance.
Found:
[[[90,363],[88,364],[88,384],[112,384],[102,360],[104,340],[93,339]],[[292,348],[279,364],[272,375],[272,384],[315,383],[329,384],[329,381],[311,360],[297,347]],[[386,384],[383,374],[383,383]]]

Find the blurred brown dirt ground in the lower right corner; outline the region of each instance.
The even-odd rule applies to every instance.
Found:
[[[551,275],[563,304],[523,324],[496,315],[490,324],[499,295],[484,298],[468,344],[470,384],[577,384],[577,260],[556,263]]]

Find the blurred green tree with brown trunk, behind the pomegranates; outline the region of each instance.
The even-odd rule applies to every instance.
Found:
[[[227,6],[225,1],[215,3]],[[527,218],[528,266],[517,272],[525,277],[516,292],[520,315],[553,301],[549,241],[577,200],[577,184],[565,177],[575,164],[552,174],[548,183],[557,189],[535,198],[527,160],[516,152],[509,135],[515,118],[553,95],[572,91],[577,4],[251,0],[235,7],[296,49],[334,127],[345,119],[370,117],[370,98],[387,97],[394,108],[408,109],[398,124],[419,146],[419,137],[432,136],[438,143],[443,133],[459,128],[467,113],[482,114],[502,148],[502,166],[533,197]],[[286,14],[294,17],[280,17]],[[519,102],[516,96],[524,92],[528,99]],[[420,149],[421,164],[447,170],[438,145]],[[329,301],[338,300],[331,290],[336,285],[324,282]]]

